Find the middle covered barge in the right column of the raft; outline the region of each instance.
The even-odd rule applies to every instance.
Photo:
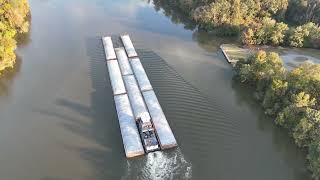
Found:
[[[152,86],[139,58],[130,59],[134,75],[137,78],[141,91],[152,90]]]

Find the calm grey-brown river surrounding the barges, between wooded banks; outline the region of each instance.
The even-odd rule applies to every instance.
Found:
[[[30,0],[18,66],[0,79],[1,179],[310,179],[305,152],[232,80],[218,45],[233,40],[156,4]],[[123,33],[179,148],[124,156],[100,40]]]

